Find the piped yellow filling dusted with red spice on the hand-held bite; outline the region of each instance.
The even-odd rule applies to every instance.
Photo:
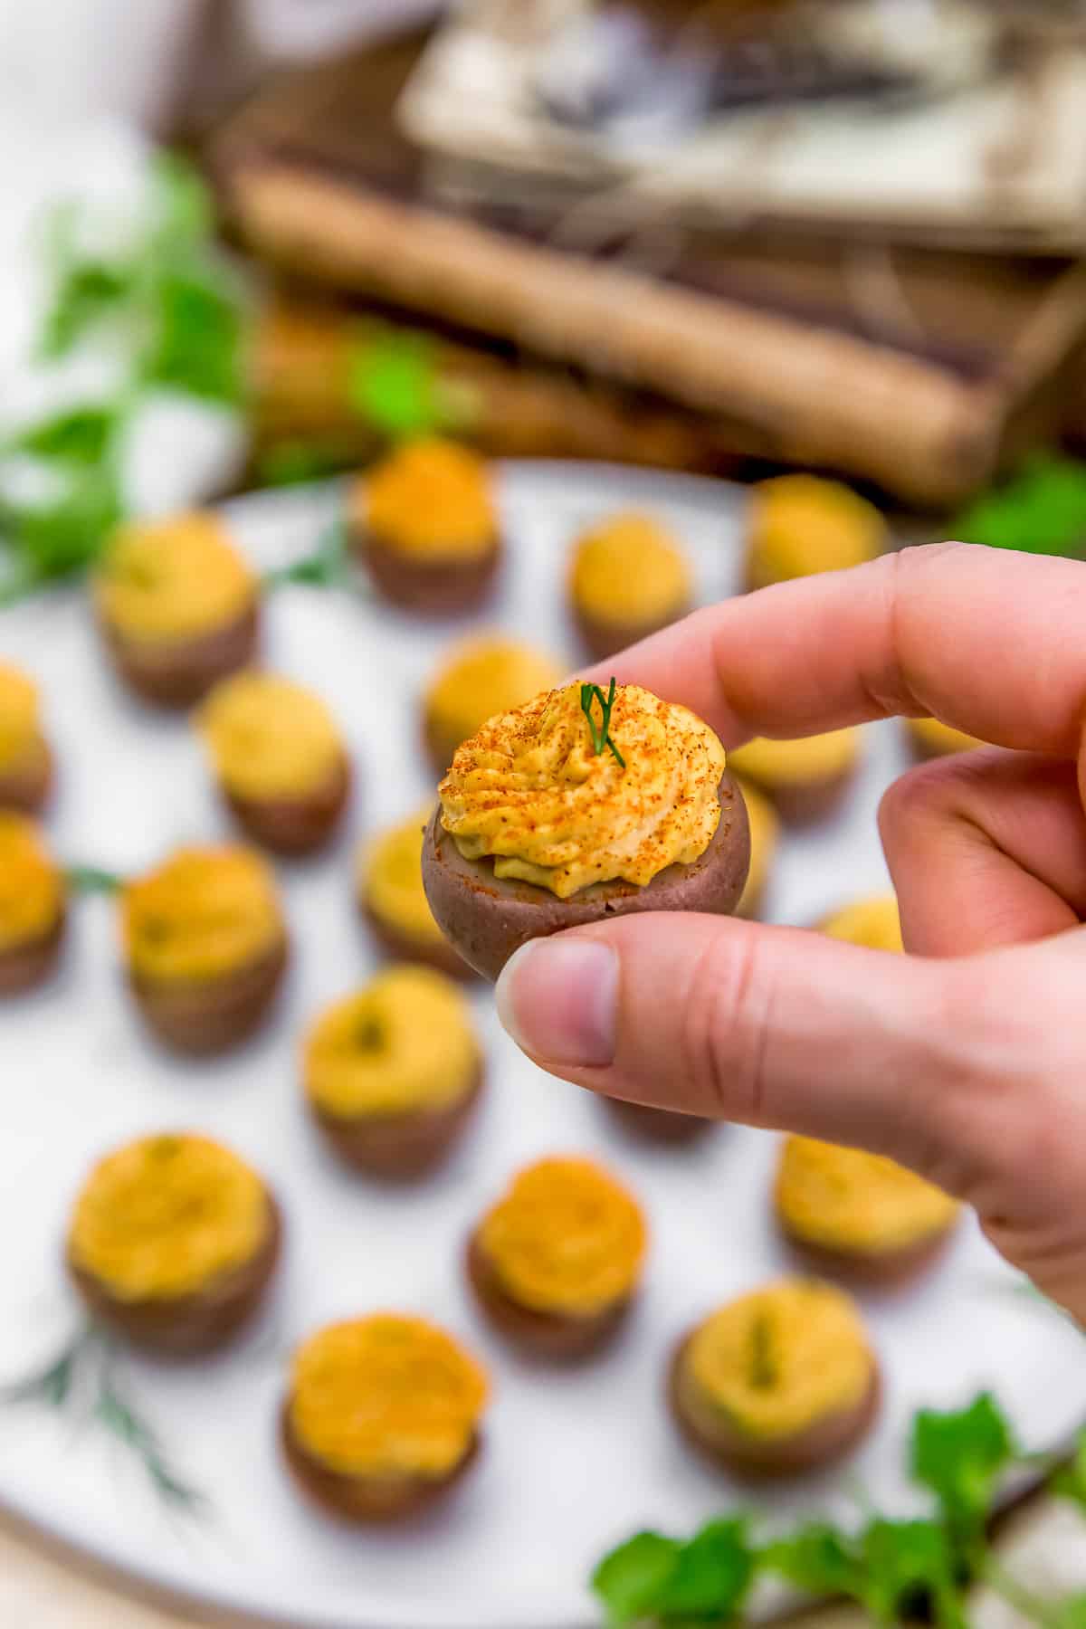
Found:
[[[599,704],[594,704],[599,727]],[[568,899],[591,883],[645,886],[705,854],[720,823],[725,749],[685,707],[622,684],[609,748],[593,749],[581,686],[547,691],[458,748],[441,782],[441,824],[495,876]]]

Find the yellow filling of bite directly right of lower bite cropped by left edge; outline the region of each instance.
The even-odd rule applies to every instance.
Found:
[[[217,979],[283,940],[275,876],[249,849],[179,849],[122,896],[129,966],[148,979]]]

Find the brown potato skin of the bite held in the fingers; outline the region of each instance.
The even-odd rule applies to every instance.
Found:
[[[728,915],[742,894],[751,863],[747,811],[736,782],[720,782],[721,816],[705,854],[692,865],[669,865],[645,888],[594,883],[557,899],[534,883],[498,880],[490,860],[466,860],[435,810],[422,845],[422,880],[441,932],[487,979],[497,979],[515,950],[568,927],[633,911],[708,911]]]

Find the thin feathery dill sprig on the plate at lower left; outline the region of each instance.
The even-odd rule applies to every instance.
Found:
[[[210,1512],[207,1495],[177,1473],[155,1427],[125,1396],[116,1347],[98,1324],[86,1323],[41,1370],[2,1386],[0,1404],[75,1412],[138,1461],[168,1510],[186,1517]]]

